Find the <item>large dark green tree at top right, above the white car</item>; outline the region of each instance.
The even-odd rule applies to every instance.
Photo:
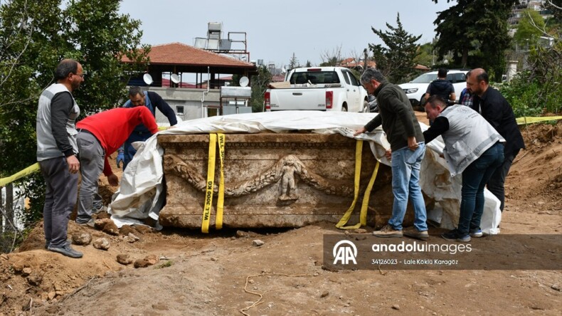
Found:
[[[452,51],[453,64],[482,67],[494,78],[502,78],[506,64],[504,52],[511,45],[507,19],[517,1],[458,0],[455,6],[441,11],[433,22],[437,26],[438,56]],[[476,56],[472,62],[471,53]]]

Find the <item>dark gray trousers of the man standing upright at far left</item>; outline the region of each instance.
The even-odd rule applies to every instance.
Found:
[[[43,230],[47,245],[63,247],[66,244],[68,220],[76,204],[78,174],[68,171],[65,157],[39,162],[47,185],[43,206]]]

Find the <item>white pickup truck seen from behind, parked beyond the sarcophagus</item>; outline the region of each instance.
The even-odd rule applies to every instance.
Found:
[[[285,84],[265,91],[265,111],[322,110],[369,112],[366,90],[347,68],[295,68]]]

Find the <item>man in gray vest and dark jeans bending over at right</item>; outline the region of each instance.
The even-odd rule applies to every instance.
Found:
[[[467,243],[471,236],[482,237],[484,186],[504,162],[505,139],[478,112],[464,105],[447,107],[438,95],[425,102],[425,112],[433,120],[433,125],[423,132],[425,142],[441,135],[451,177],[462,174],[459,223],[441,236],[447,241]]]

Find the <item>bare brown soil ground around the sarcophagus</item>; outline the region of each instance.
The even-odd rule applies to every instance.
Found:
[[[522,133],[502,234],[562,234],[562,121]],[[109,199],[115,189],[102,178]],[[322,236],[344,233],[333,223],[208,235],[124,226],[112,235],[70,221],[68,232],[110,248],[73,245],[81,259],[48,252],[38,223],[0,255],[0,315],[562,314],[561,270],[324,270]],[[155,264],[134,268],[118,255]]]

